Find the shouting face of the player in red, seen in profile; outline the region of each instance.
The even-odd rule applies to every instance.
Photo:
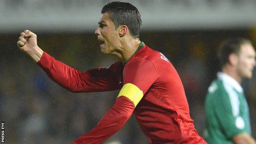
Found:
[[[117,47],[118,32],[115,30],[113,21],[110,20],[108,13],[104,13],[98,22],[99,26],[95,31],[98,40],[102,41],[101,52],[105,55],[112,55]]]

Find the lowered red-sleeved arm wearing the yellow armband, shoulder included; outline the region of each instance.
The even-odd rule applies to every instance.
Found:
[[[147,73],[139,73],[147,71]],[[146,75],[146,78],[145,78]],[[158,78],[153,64],[146,59],[137,59],[126,65],[124,84],[119,95],[107,114],[89,133],[82,135],[72,144],[100,144],[114,135],[130,118],[134,108]],[[139,87],[142,89],[140,89]]]

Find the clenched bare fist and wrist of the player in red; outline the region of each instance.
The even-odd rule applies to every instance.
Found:
[[[18,38],[18,48],[32,57],[35,62],[38,62],[42,55],[43,50],[37,46],[37,35],[29,30],[21,32],[21,36]]]

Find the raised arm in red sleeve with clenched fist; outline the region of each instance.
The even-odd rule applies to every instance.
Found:
[[[116,75],[108,69],[98,68],[78,71],[57,61],[37,46],[37,35],[25,30],[21,33],[18,48],[32,57],[51,80],[71,92],[112,91],[120,89]]]

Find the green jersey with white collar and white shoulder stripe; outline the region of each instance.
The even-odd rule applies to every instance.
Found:
[[[208,88],[206,96],[206,130],[209,144],[233,144],[232,137],[247,132],[251,135],[249,108],[240,84],[225,73]]]

